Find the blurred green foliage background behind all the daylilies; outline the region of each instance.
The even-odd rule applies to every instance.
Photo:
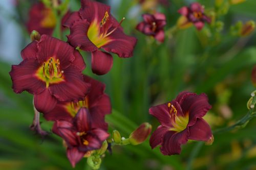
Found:
[[[15,94],[11,89],[8,72],[12,64],[21,61],[19,53],[30,42],[24,23],[35,1],[11,2],[0,4],[0,169],[72,169],[58,136],[51,134],[42,140],[30,130],[33,96],[28,92]],[[125,33],[138,39],[134,56],[122,59],[114,55],[113,68],[104,76],[92,74],[90,54],[82,53],[87,63],[84,74],[104,82],[111,97],[113,114],[106,116],[109,132],[117,129],[128,137],[143,122],[151,123],[155,130],[159,123],[148,114],[148,108],[171,101],[183,90],[208,95],[212,109],[205,119],[213,130],[231,125],[247,113],[246,103],[255,90],[251,71],[256,64],[256,35],[232,36],[229,30],[238,20],[256,20],[255,0],[229,8],[227,1],[219,8],[214,0],[199,1],[207,13],[222,13],[216,20],[224,23],[223,30],[206,26],[198,32],[191,27],[166,35],[162,44],[135,30],[141,14],[163,12],[168,30],[176,25],[180,16],[177,10],[195,1],[170,0],[169,6],[155,3],[150,8],[132,0],[101,2],[112,6],[118,20],[126,17],[122,23]],[[72,11],[80,8],[80,1],[71,0],[70,4]],[[6,32],[9,25],[14,30]],[[50,131],[52,123],[41,121]],[[163,156],[158,148],[151,150],[148,141],[114,147],[100,169],[256,169],[255,131],[256,120],[252,119],[241,130],[216,134],[211,146],[190,142],[175,156]],[[84,159],[75,169],[90,168]]]

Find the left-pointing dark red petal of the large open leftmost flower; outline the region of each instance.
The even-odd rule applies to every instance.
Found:
[[[12,79],[12,88],[15,93],[27,90],[29,93],[37,94],[46,89],[46,83],[38,80],[35,76],[39,64],[35,59],[25,59],[19,65],[12,65],[9,72]]]

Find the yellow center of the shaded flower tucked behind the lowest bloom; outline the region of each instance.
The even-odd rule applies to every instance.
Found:
[[[89,98],[86,96],[83,101],[79,101],[77,103],[70,102],[66,105],[66,110],[72,117],[75,117],[78,110],[82,107],[89,108]]]

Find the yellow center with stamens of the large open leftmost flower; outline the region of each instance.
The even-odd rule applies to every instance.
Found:
[[[44,62],[36,71],[36,77],[46,82],[46,87],[49,84],[55,84],[65,81],[64,71],[60,69],[59,59],[55,60],[51,57],[47,62]]]

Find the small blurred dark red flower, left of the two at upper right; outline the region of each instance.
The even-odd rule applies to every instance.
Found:
[[[165,15],[162,13],[143,14],[144,21],[140,22],[136,29],[146,35],[151,35],[159,42],[164,41],[164,26],[166,25]]]

